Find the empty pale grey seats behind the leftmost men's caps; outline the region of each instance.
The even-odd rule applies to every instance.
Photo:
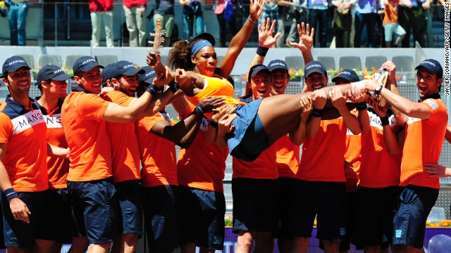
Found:
[[[57,65],[57,66],[62,67],[63,70],[71,70],[73,63],[75,63],[75,60],[82,57],[82,56],[78,56],[78,55],[64,56],[64,61],[63,61],[63,64],[61,65],[61,56],[43,54],[43,55],[37,56],[37,62],[35,65],[35,60],[32,55],[23,54],[23,55],[16,55],[16,56],[23,57],[32,69],[40,69],[41,67],[43,67],[45,65]],[[103,65],[103,66],[109,65],[109,63],[117,63],[118,62],[117,56],[104,55],[104,56],[95,56],[95,58],[99,62],[99,64]]]

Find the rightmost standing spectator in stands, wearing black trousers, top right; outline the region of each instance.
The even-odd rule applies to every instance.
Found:
[[[425,0],[401,0],[398,12],[398,21],[406,30],[406,36],[402,39],[402,47],[410,47],[410,34],[414,34],[414,41],[418,41],[424,47],[424,34],[426,32],[426,9],[429,1]]]

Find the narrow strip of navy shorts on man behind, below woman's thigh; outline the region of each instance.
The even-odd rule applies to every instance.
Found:
[[[279,228],[277,238],[292,239],[290,235],[291,184],[299,179],[279,178]]]

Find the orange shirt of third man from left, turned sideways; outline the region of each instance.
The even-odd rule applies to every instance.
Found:
[[[66,97],[61,109],[70,149],[68,181],[94,181],[113,176],[111,145],[103,117],[109,102],[82,91]]]

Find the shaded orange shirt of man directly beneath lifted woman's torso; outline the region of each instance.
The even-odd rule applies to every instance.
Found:
[[[184,119],[194,110],[190,109],[181,118]],[[215,144],[205,142],[208,119],[202,119],[197,136],[190,148],[182,148],[178,156],[177,176],[180,186],[189,186],[202,190],[223,193],[223,179],[226,171],[228,148],[218,148]]]

